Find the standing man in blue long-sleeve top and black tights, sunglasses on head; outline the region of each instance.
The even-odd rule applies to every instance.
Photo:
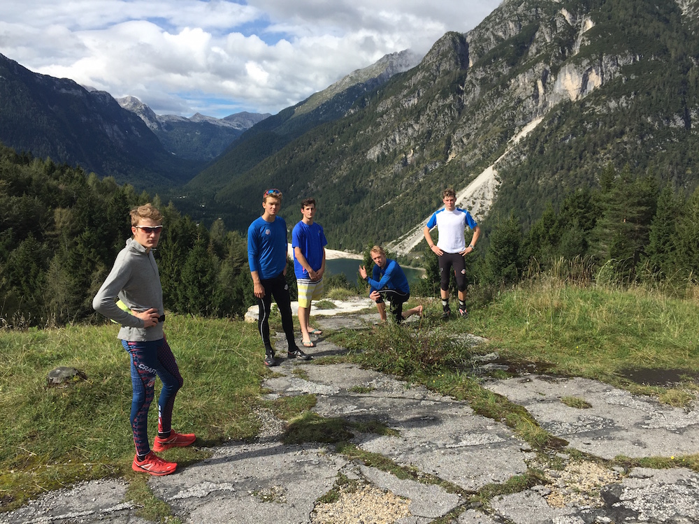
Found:
[[[296,346],[294,319],[291,316],[291,297],[287,285],[287,223],[278,217],[282,207],[282,192],[268,189],[262,195],[264,212],[247,228],[247,262],[250,264],[252,286],[259,304],[259,328],[265,349],[265,365],[277,365],[274,349],[269,338],[269,314],[274,297],[282,315],[282,328],[287,335],[289,358],[308,360]]]

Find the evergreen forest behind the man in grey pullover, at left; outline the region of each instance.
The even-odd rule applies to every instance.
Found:
[[[0,146],[0,328],[97,320],[92,298],[131,234],[129,210],[147,202],[164,214],[154,256],[166,308],[244,314],[247,239],[222,221],[207,229],[157,195]]]

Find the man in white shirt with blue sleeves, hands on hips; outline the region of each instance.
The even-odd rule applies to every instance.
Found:
[[[454,268],[456,289],[459,294],[459,316],[466,318],[466,261],[463,257],[473,249],[480,236],[480,227],[471,214],[456,207],[456,191],[448,188],[442,194],[444,208],[435,211],[423,229],[425,240],[432,252],[439,257],[440,295],[442,296],[442,319],[449,318],[449,276]],[[473,229],[473,237],[468,246],[464,231],[466,226]],[[437,228],[439,238],[435,244],[430,230]]]

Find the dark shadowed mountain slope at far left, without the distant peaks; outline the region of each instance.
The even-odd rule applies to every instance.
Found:
[[[177,159],[110,94],[29,71],[0,55],[0,142],[143,188],[182,183],[203,161]]]

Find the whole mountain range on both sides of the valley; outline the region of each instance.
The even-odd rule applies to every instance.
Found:
[[[389,55],[261,119],[218,156],[215,147],[206,152],[213,155],[206,166],[201,157],[182,161],[194,155],[181,147],[175,157],[158,139],[156,130],[186,137],[168,128],[180,117],[121,101],[138,118],[108,94],[29,77],[3,59],[0,140],[120,182],[138,168],[164,173],[175,161],[175,176],[159,186],[163,196],[180,198],[178,207],[196,219],[221,217],[240,231],[259,216],[250,196],[268,187],[284,192],[282,216],[293,221],[298,202],[315,196],[329,247],[382,242],[409,251],[447,186],[484,224],[514,214],[525,228],[547,203],[595,186],[609,164],[651,173],[676,191],[696,187],[698,3],[504,0],[424,57]],[[119,124],[106,125],[103,115],[117,109]],[[66,124],[76,114],[113,129],[102,134],[114,141],[77,133]],[[6,122],[16,126],[10,133]],[[99,152],[112,155],[109,166]]]

